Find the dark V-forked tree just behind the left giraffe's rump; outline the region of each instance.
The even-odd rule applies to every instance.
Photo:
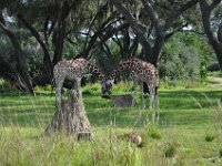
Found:
[[[39,4],[39,6],[38,6]],[[36,84],[44,84],[50,83],[52,80],[52,69],[53,65],[57,64],[63,53],[63,45],[64,45],[64,39],[67,37],[67,24],[68,24],[68,18],[70,17],[71,9],[73,7],[78,8],[80,6],[80,1],[48,1],[44,3],[43,1],[31,1],[29,6],[22,6],[23,8],[17,9],[17,17],[22,22],[22,24],[31,32],[31,34],[37,39],[39,44],[41,45],[43,50],[43,75],[38,76],[34,80]],[[36,7],[39,7],[42,9],[42,13],[44,15],[39,14],[36,15],[40,21],[38,21],[38,25],[34,28],[32,25],[32,17],[24,17],[26,12],[32,12],[30,10],[33,10]],[[75,9],[73,8],[73,10]],[[50,9],[50,10],[48,10]],[[36,9],[38,10],[38,9]],[[57,12],[56,12],[57,11]],[[26,14],[27,15],[27,14]],[[33,15],[33,13],[31,14]],[[43,38],[41,37],[43,29]],[[52,38],[52,43],[49,43],[49,39]],[[53,50],[53,60],[51,60],[51,49]],[[42,82],[42,80],[44,80]]]

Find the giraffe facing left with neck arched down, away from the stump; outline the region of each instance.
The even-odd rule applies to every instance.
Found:
[[[140,82],[141,96],[143,108],[145,108],[143,82],[147,83],[150,92],[150,108],[158,107],[158,87],[159,87],[159,71],[158,69],[149,63],[139,59],[129,59],[120,62],[120,64],[110,73],[107,81],[102,84],[102,94],[111,93],[114,79],[122,71],[128,71],[132,75],[133,80],[133,101],[132,106],[135,104],[135,94],[138,83]]]

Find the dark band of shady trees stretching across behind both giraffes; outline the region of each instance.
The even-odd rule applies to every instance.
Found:
[[[222,68],[221,13],[221,0],[1,0],[0,76],[33,93],[63,58],[158,64],[179,32],[208,38]]]

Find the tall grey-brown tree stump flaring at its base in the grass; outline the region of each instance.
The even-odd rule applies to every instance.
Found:
[[[61,110],[57,110],[46,133],[50,134],[57,131],[65,134],[74,134],[78,139],[92,139],[93,134],[85,115],[81,91],[70,91],[68,101],[61,102]]]

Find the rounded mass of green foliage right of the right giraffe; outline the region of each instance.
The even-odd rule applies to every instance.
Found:
[[[165,43],[160,59],[164,80],[199,80],[206,77],[211,49],[201,37],[179,33]]]

